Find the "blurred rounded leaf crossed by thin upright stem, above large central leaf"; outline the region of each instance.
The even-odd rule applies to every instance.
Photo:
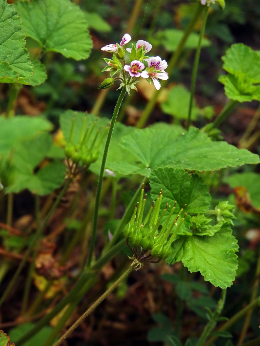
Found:
[[[176,85],[174,88],[169,90],[167,99],[161,103],[161,108],[164,113],[170,114],[177,119],[187,119],[189,102],[189,91],[184,88],[184,86]],[[197,119],[198,115],[199,109],[195,106],[195,102],[193,101],[191,119]]]

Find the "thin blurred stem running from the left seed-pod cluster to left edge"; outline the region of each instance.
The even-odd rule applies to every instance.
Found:
[[[5,292],[3,293],[1,299],[0,299],[0,306],[2,305],[2,303],[5,301],[6,297],[8,296],[9,292],[11,291],[12,287],[14,286],[16,279],[18,277],[18,275],[20,274],[21,270],[23,269],[29,255],[31,254],[32,250],[35,247],[35,244],[37,243],[38,238],[40,237],[43,229],[45,228],[45,226],[47,225],[47,222],[49,221],[50,217],[52,216],[52,213],[54,212],[54,210],[56,209],[56,207],[58,206],[58,204],[60,203],[60,200],[62,199],[64,193],[67,190],[67,187],[69,186],[71,182],[71,179],[68,179],[66,184],[64,185],[63,189],[61,190],[57,200],[53,203],[48,215],[46,216],[45,220],[43,221],[43,224],[41,225],[41,227],[39,227],[36,231],[35,237],[32,241],[32,243],[29,245],[26,254],[24,255],[23,260],[20,262],[14,276],[12,277],[11,281],[9,282]]]

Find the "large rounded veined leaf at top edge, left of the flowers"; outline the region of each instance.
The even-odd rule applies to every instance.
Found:
[[[75,60],[89,56],[92,41],[85,13],[70,0],[34,0],[15,6],[25,35],[40,43],[45,52]]]

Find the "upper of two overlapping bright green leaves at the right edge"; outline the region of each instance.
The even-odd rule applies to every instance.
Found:
[[[233,44],[222,57],[223,69],[235,76],[241,73],[252,83],[260,83],[260,56],[243,43]]]

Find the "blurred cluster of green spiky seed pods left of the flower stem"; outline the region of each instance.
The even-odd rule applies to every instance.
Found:
[[[77,144],[73,144],[72,137],[75,123],[75,117],[73,117],[70,129],[70,138],[69,142],[66,144],[64,148],[64,153],[66,157],[72,162],[72,164],[79,164],[81,166],[88,167],[98,158],[98,148],[101,145],[102,140],[108,130],[108,126],[103,130],[102,134],[100,135],[102,127],[95,130],[97,121],[94,121],[93,124],[89,122],[86,128],[86,120],[87,116],[84,117],[79,141]],[[95,135],[93,135],[93,133],[95,133]]]

